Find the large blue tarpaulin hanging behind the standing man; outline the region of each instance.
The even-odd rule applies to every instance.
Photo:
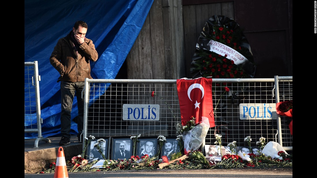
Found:
[[[99,55],[96,62],[91,62],[91,76],[94,79],[114,79],[152,3],[153,0],[24,1],[24,62],[38,61],[43,137],[61,133],[61,91],[60,82],[56,82],[59,73],[49,62],[58,39],[72,30],[75,21],[85,21],[88,24],[86,37],[94,42]],[[91,92],[93,90],[98,91],[91,88]],[[98,95],[102,94],[100,92]],[[31,115],[34,110],[25,112]],[[77,115],[75,97],[72,119]],[[25,123],[28,124],[31,123]],[[72,121],[71,134],[77,133],[77,124]],[[37,132],[24,133],[25,139],[37,136]]]

